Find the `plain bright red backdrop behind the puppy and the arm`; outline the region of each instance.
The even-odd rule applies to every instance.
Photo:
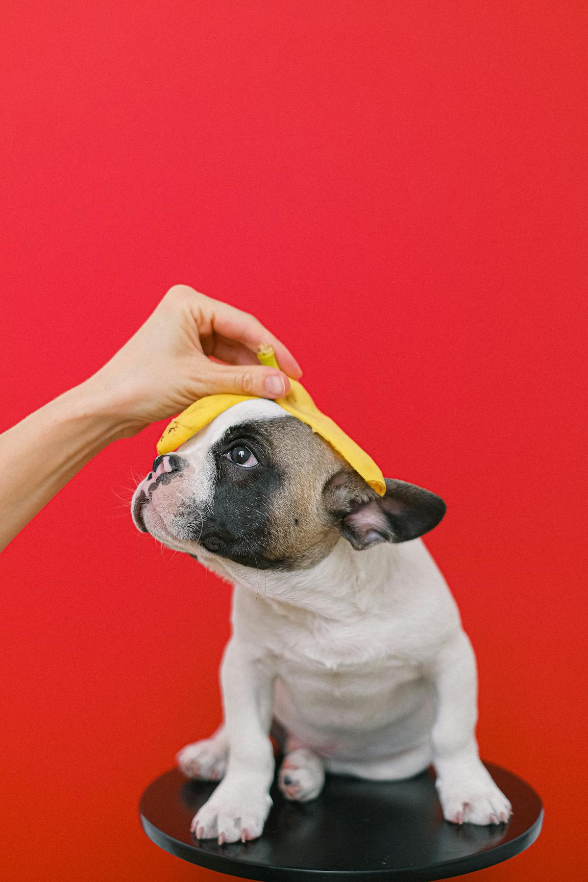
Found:
[[[477,651],[482,755],[547,808],[495,882],[585,857],[585,9],[3,4],[2,427],[176,282],[256,313],[385,474],[447,500],[428,546]],[[159,430],[2,558],[4,878],[218,878],[138,825],[219,720],[230,598],[131,524]]]

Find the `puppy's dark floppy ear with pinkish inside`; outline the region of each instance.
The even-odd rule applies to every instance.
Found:
[[[350,469],[341,469],[325,483],[323,501],[331,524],[358,550],[376,542],[416,539],[436,527],[445,513],[443,499],[429,490],[386,478],[386,493],[380,497]]]

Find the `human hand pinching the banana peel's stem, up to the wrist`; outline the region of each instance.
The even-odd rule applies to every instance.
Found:
[[[283,370],[262,367],[256,351],[272,344]],[[214,356],[225,362],[212,362]],[[281,398],[290,390],[288,375],[301,369],[287,348],[257,318],[175,285],[138,332],[86,381],[97,398],[134,435],[205,395],[233,392]]]

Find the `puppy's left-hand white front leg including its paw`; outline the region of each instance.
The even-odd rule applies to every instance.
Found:
[[[228,766],[224,779],[192,821],[197,839],[257,839],[272,807],[274,759],[269,738],[273,675],[254,647],[231,639],[220,668]]]

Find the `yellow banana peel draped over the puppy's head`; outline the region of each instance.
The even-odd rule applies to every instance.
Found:
[[[257,359],[266,366],[279,367],[272,346],[260,346],[257,350]],[[169,423],[160,437],[157,452],[164,454],[177,450],[190,437],[196,435],[205,425],[212,422],[216,416],[222,414],[229,407],[239,404],[240,401],[248,401],[258,397],[257,395],[206,395],[205,398],[201,398],[195,404],[187,407],[182,414],[176,416]],[[297,380],[291,379],[290,392],[284,398],[274,400],[288,414],[295,416],[301,422],[306,422],[313,432],[324,438],[361,475],[363,480],[368,482],[373,490],[376,490],[379,496],[384,495],[386,483],[374,460],[361,449],[360,445],[355,444],[352,438],[339,429],[331,417],[323,414],[316,407],[303,385]]]

